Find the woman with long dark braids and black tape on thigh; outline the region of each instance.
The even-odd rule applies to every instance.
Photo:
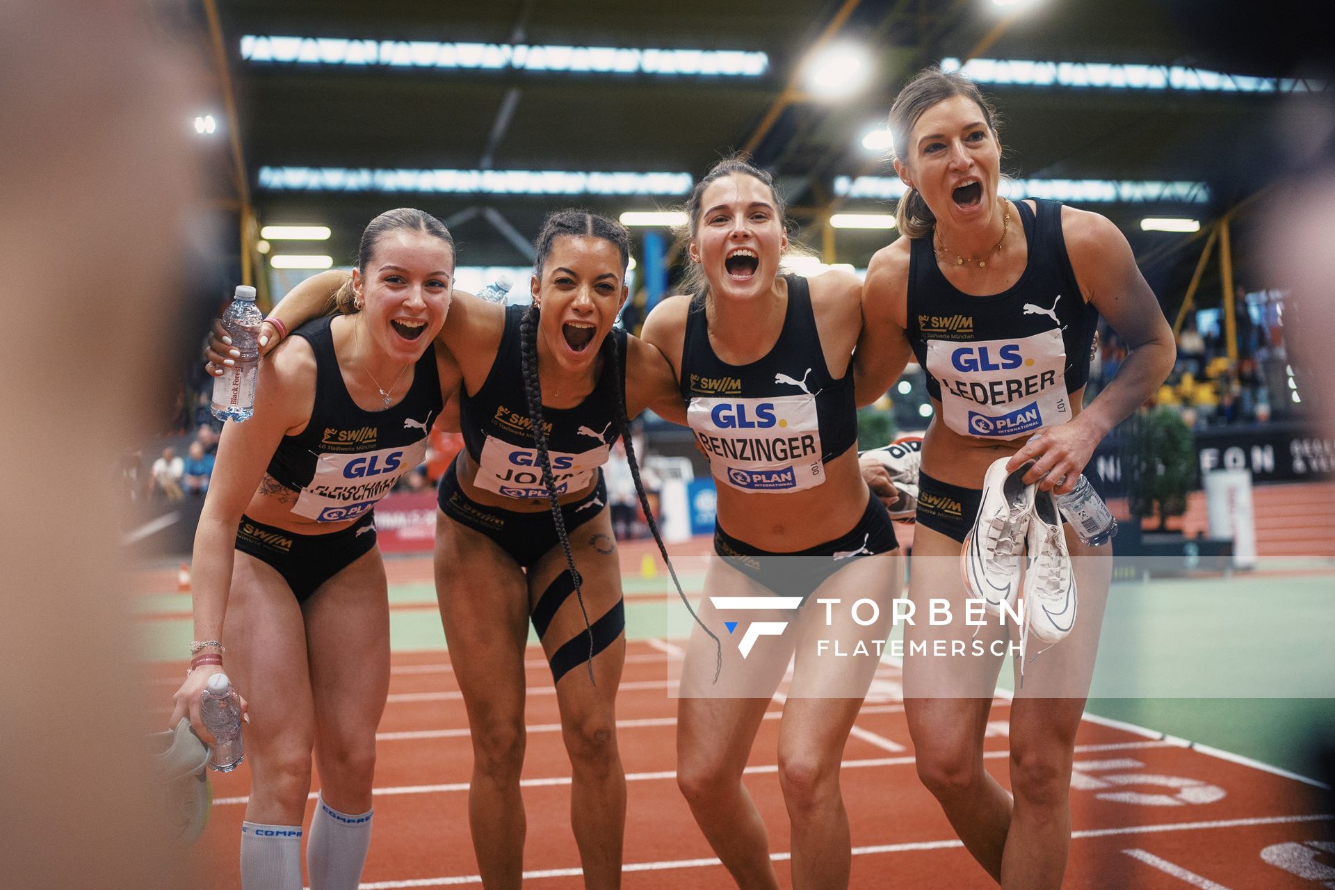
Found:
[[[666,560],[627,416],[653,407],[685,420],[663,356],[613,327],[629,258],[618,223],[555,212],[537,239],[533,304],[501,307],[457,291],[441,331],[463,378],[466,447],[441,479],[437,595],[469,713],[469,817],[486,887],[519,887],[522,877],[530,619],[557,687],[586,886],[621,882],[626,790],[614,705],[625,614],[601,464],[619,435]],[[275,314],[291,323],[318,312],[342,278],[303,282]]]

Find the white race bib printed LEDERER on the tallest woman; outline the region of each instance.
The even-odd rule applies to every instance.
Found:
[[[1015,439],[1072,415],[1060,328],[1008,340],[926,342],[926,370],[941,384],[955,432]]]

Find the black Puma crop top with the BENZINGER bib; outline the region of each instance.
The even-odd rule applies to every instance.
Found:
[[[816,331],[805,278],[785,275],[778,340],[750,364],[728,364],[709,343],[705,307],[686,314],[681,395],[714,478],[742,491],[800,491],[857,443],[853,364],[836,380]]]

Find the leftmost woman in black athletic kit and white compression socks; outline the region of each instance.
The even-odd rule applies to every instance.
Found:
[[[195,658],[172,725],[188,714],[211,738],[199,694],[219,671],[247,703],[244,890],[300,890],[312,763],[311,886],[358,886],[390,679],[372,508],[422,462],[442,390],[458,380],[435,346],[454,279],[446,227],[417,209],[382,213],[358,260],[340,314],[260,364],[255,414],[223,428],[195,534]]]

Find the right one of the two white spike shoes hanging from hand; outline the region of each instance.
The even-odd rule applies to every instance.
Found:
[[[1035,496],[1027,548],[1024,620],[1044,643],[1060,643],[1076,623],[1076,575],[1061,514],[1048,491]]]

